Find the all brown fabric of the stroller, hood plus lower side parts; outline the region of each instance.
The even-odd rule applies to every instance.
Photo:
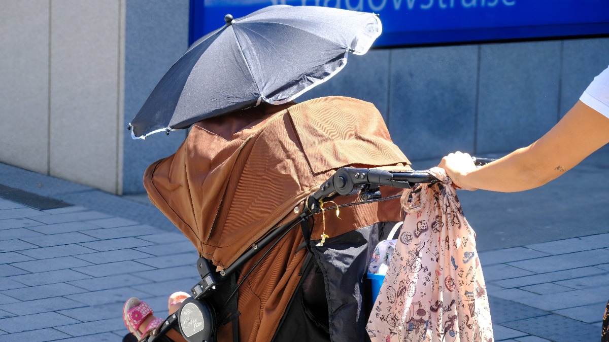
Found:
[[[297,217],[295,207],[302,211],[305,197],[336,169],[409,164],[374,105],[323,97],[280,106],[262,103],[202,120],[174,155],[148,167],[144,186],[150,200],[219,271],[278,223]],[[325,232],[336,237],[397,221],[399,208],[389,201],[348,207],[345,214],[340,211],[342,220],[326,214]],[[312,239],[321,232],[322,225],[315,225]],[[248,277],[247,289],[239,288],[242,340],[272,338],[298,283],[302,242],[300,229],[291,231]],[[251,266],[247,263],[244,272]],[[219,340],[222,334],[220,329]]]

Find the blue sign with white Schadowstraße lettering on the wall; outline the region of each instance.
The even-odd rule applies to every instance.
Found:
[[[374,12],[375,46],[609,35],[609,0],[191,0],[191,43],[268,5],[315,5]]]

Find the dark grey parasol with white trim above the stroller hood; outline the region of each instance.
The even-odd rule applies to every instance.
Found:
[[[365,54],[381,34],[372,13],[274,5],[196,41],[130,122],[132,137],[188,128],[208,117],[294,100]]]

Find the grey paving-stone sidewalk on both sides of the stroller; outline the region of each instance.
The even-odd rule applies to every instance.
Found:
[[[0,184],[0,341],[120,341],[128,296],[163,316],[167,295],[198,280],[194,247],[146,201],[5,164]],[[12,189],[40,207],[74,205],[31,208]],[[495,340],[598,341],[609,299],[605,231],[482,251]]]

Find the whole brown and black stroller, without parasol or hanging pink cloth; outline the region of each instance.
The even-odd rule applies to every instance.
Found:
[[[365,279],[413,171],[371,103],[323,97],[193,125],[144,175],[199,251],[192,298],[147,341],[366,341]]]

